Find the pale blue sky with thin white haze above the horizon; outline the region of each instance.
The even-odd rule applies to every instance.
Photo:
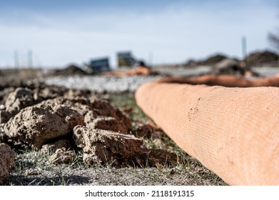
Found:
[[[0,0],[0,66],[82,65],[132,51],[151,64],[178,64],[213,54],[242,58],[271,50],[268,32],[279,29],[279,1]]]

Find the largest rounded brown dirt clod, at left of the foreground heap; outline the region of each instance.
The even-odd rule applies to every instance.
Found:
[[[9,138],[40,148],[47,141],[68,134],[83,124],[83,116],[63,104],[37,104],[21,109],[4,126]]]

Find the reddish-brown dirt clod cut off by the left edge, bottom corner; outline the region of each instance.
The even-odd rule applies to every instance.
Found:
[[[14,162],[14,151],[7,144],[0,144],[0,185],[4,179],[9,176],[9,172],[13,169],[16,164]]]

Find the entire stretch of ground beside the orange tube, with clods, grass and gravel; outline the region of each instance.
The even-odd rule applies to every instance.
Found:
[[[276,64],[278,56],[263,52],[247,61]],[[205,70],[201,64],[210,66]],[[51,74],[1,69],[0,184],[225,185],[138,109],[134,91],[171,76],[169,69],[176,76],[268,73],[243,71],[241,62],[220,55],[186,66],[98,76],[76,66]]]

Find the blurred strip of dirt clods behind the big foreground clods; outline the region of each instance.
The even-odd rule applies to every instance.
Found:
[[[91,99],[92,96],[102,97],[102,94],[88,90],[46,86],[38,81],[34,83],[12,81],[8,86],[5,82],[0,82],[0,124],[9,121],[11,117],[27,106],[39,104],[41,101],[54,99],[58,96],[67,98],[83,96],[83,98]]]

